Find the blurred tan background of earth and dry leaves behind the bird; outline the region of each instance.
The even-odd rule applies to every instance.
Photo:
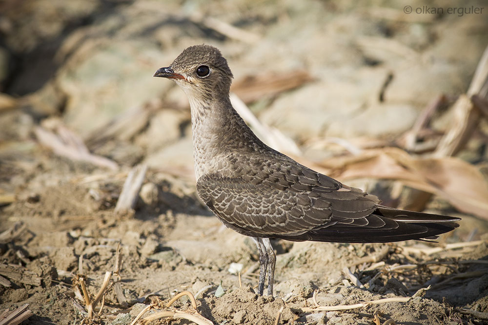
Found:
[[[0,231],[39,232],[0,241],[4,261],[50,256],[71,271],[80,236],[153,254],[150,241],[141,253],[148,238],[177,236],[173,212],[209,215],[195,192],[187,99],[152,77],[202,43],[227,58],[232,100],[264,142],[386,205],[462,216],[452,241],[484,238],[488,7],[460,6],[2,0]],[[124,223],[112,213],[135,166],[142,190],[126,199]],[[25,261],[9,240],[24,243]]]

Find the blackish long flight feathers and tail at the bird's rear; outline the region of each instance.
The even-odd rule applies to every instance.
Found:
[[[291,241],[317,241],[334,243],[388,243],[410,239],[436,239],[437,235],[451,231],[461,219],[438,214],[395,210],[383,206],[371,214],[384,221],[383,227],[335,224],[311,230],[298,236],[280,236]],[[366,217],[368,218],[368,217]]]

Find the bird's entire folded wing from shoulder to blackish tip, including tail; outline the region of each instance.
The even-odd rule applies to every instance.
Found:
[[[276,154],[265,160],[250,155],[240,177],[198,179],[200,197],[231,229],[254,237],[366,243],[430,238],[458,226],[458,218],[383,207],[375,195]]]

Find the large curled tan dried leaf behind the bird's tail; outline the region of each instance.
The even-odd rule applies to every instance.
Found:
[[[455,157],[416,158],[398,148],[366,150],[321,164],[341,180],[394,179],[447,199],[458,210],[488,218],[488,184],[481,172]]]

